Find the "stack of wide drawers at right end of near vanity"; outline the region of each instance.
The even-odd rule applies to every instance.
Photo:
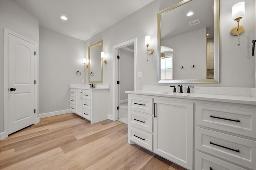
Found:
[[[196,103],[195,112],[196,170],[256,169],[255,106]]]

